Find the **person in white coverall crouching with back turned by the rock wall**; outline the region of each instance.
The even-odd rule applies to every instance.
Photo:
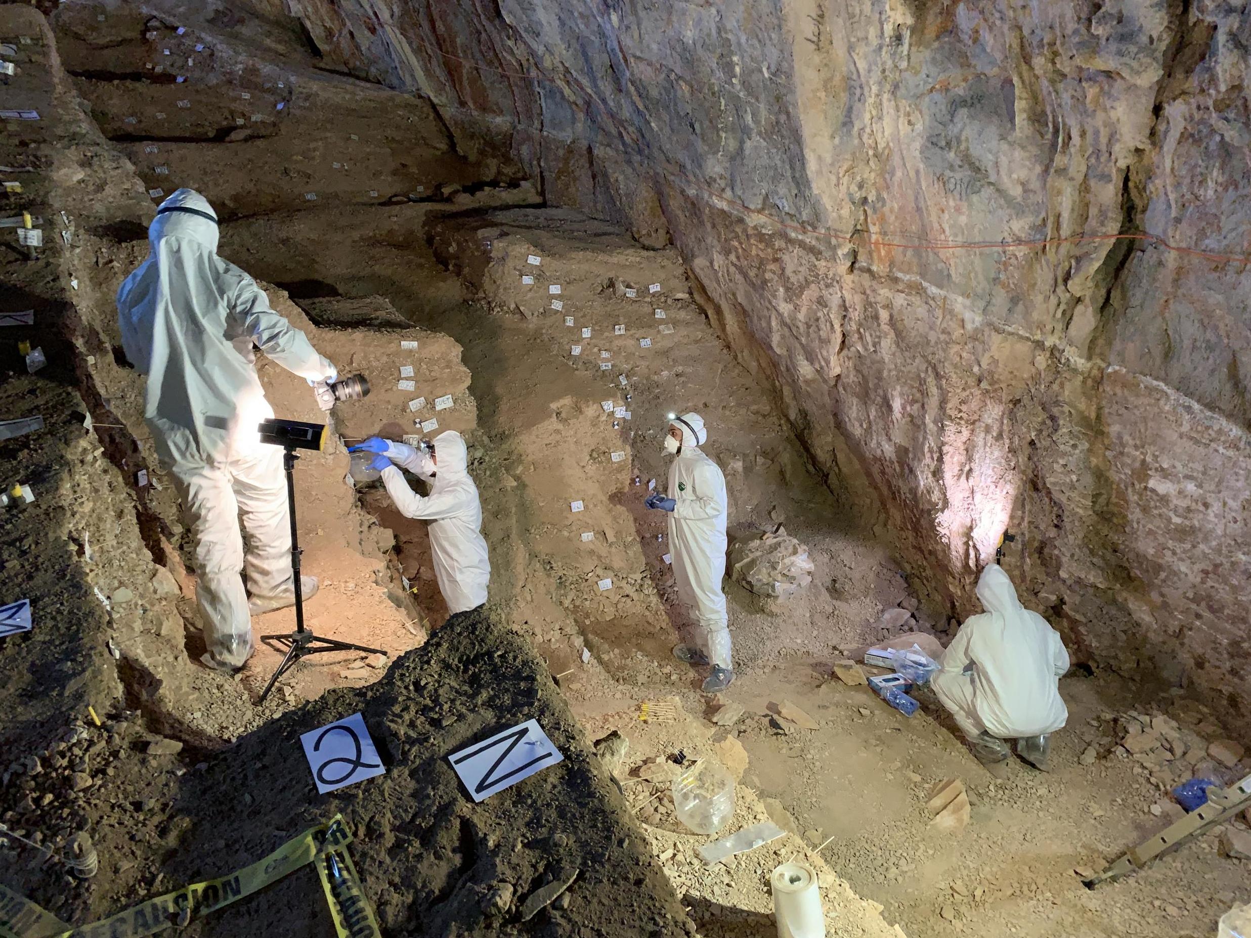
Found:
[[[982,570],[977,598],[986,612],[960,627],[931,685],[992,774],[1006,772],[1010,739],[1046,772],[1047,737],[1068,719],[1060,697],[1068,652],[1046,619],[1021,605],[998,564]]]

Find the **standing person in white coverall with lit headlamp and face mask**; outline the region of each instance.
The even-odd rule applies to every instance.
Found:
[[[673,654],[691,664],[712,664],[703,683],[707,693],[724,690],[734,679],[729,617],[721,580],[726,575],[726,519],[729,499],[726,475],[699,446],[708,441],[699,414],[671,414],[664,451],[676,454],[669,468],[669,494],[653,493],[647,507],[669,513],[669,553],[678,598],[691,607],[702,648],[678,645]]]

